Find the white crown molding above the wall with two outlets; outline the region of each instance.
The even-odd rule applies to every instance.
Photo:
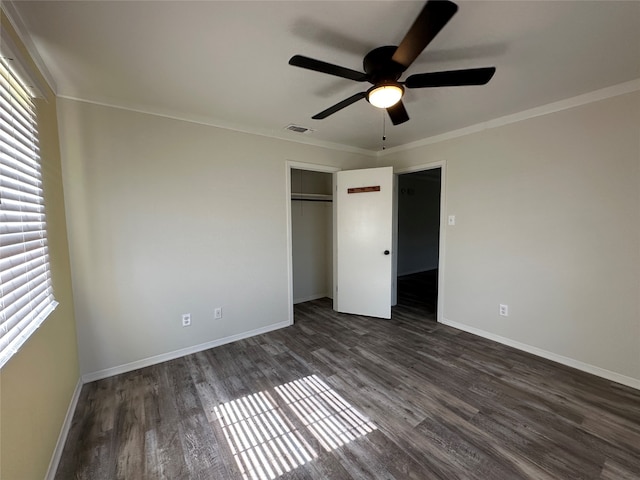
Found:
[[[329,150],[336,150],[339,152],[358,153],[360,155],[365,155],[367,157],[372,157],[372,158],[375,158],[377,155],[374,150],[366,150],[364,148],[351,147],[349,145],[344,145],[342,143],[334,143],[334,142],[328,142],[325,140],[317,140],[307,134],[302,135],[299,133],[293,133],[293,132],[289,132],[288,130],[284,130],[282,128],[278,128],[278,130],[276,131],[271,129],[247,128],[240,125],[228,124],[224,120],[221,120],[219,118],[211,119],[210,117],[206,117],[206,118],[204,117],[196,118],[195,116],[189,117],[187,114],[182,114],[182,113],[160,112],[160,111],[155,111],[153,109],[144,108],[140,106],[125,107],[123,105],[117,105],[114,103],[100,102],[97,100],[87,100],[85,98],[72,97],[69,95],[62,95],[62,94],[58,95],[58,98],[63,98],[65,100],[72,100],[74,102],[88,103],[91,105],[98,105],[100,107],[114,108],[117,110],[125,110],[127,112],[141,113],[143,115],[152,115],[155,117],[169,118],[171,120],[179,120],[182,122],[195,123],[196,125],[206,125],[208,127],[221,128],[223,130],[231,130],[233,132],[248,133],[250,135],[258,135],[260,137],[267,137],[272,139],[275,138],[277,140],[282,140],[285,142],[301,143],[304,145],[311,145],[314,147],[322,147],[322,148],[327,148]],[[282,134],[282,132],[288,132],[288,135],[285,136]],[[313,135],[313,133],[311,135]]]

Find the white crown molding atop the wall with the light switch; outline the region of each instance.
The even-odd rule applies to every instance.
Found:
[[[491,128],[502,127],[511,123],[521,122],[530,118],[540,117],[548,115],[550,113],[560,112],[562,110],[568,110],[570,108],[579,107],[581,105],[587,105],[589,103],[605,100],[607,98],[616,97],[618,95],[625,95],[640,90],[640,79],[631,80],[629,82],[620,83],[611,87],[602,88],[593,92],[578,95],[577,97],[566,98],[557,102],[548,103],[539,107],[530,108],[522,112],[514,113],[512,115],[505,115],[486,122],[477,123],[469,127],[460,128],[458,130],[452,130],[440,135],[434,135],[432,137],[416,140],[415,142],[405,143],[404,145],[398,145],[397,147],[391,147],[383,151],[378,152],[378,157],[384,157],[393,153],[402,152],[405,150],[413,150],[414,148],[423,147],[425,145],[431,145],[434,143],[443,142],[445,140],[451,140],[453,138],[463,137],[472,133],[482,132]]]

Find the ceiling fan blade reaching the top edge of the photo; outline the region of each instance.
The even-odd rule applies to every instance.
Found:
[[[413,25],[400,42],[391,60],[404,66],[405,70],[418,58],[442,27],[458,11],[458,6],[448,0],[429,0]]]

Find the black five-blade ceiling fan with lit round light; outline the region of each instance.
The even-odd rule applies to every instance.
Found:
[[[291,57],[289,65],[356,82],[366,81],[373,85],[367,91],[358,92],[311,118],[316,120],[327,118],[352,103],[366,98],[373,106],[386,109],[391,122],[399,125],[409,120],[409,114],[402,103],[405,88],[487,84],[496,71],[495,67],[418,73],[410,75],[404,82],[399,81],[404,71],[451,20],[457,10],[458,6],[449,0],[427,1],[400,45],[378,47],[367,53],[363,61],[364,73],[303,55]]]

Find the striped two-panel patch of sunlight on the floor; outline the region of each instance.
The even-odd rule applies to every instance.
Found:
[[[273,480],[318,457],[304,439],[304,429],[296,427],[300,422],[327,451],[376,430],[316,375],[275,391],[284,405],[263,391],[214,409],[245,480]]]

